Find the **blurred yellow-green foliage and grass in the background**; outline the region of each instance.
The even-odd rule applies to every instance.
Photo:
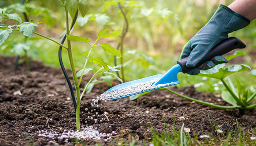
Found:
[[[126,78],[133,80],[164,73],[165,70],[176,64],[182,46],[208,22],[218,8],[218,5],[220,3],[229,5],[232,1],[136,0],[136,7],[134,6],[132,9],[123,4],[129,22],[129,30],[124,41]],[[87,0],[87,3],[90,4],[90,9],[84,18],[78,18],[73,34],[85,36],[95,41],[97,32],[101,29],[108,28],[112,31],[123,27],[124,18],[118,9],[118,5],[108,5],[106,7],[106,2],[106,0]],[[0,8],[16,3],[20,3],[20,0],[0,0]],[[36,28],[37,32],[54,37],[60,41],[65,31],[65,15],[62,13],[63,7],[59,7],[61,2],[58,0],[29,0],[26,4],[33,4],[38,8],[47,8],[44,10],[45,12],[41,11],[41,14],[34,15],[35,13],[28,13],[29,18],[34,20],[34,22],[45,22],[39,24],[41,27]],[[19,14],[17,9],[15,11]],[[46,14],[48,13],[49,16],[52,16],[51,19],[47,18]],[[22,16],[24,21],[24,16],[21,14],[20,16]],[[12,22],[6,23],[12,24]],[[255,56],[253,57],[251,54],[256,52],[256,21],[252,21],[249,26],[242,30],[231,33],[230,36],[238,37],[248,45],[246,48],[249,52],[248,55],[244,55],[240,59],[242,61],[238,61],[238,63],[247,64],[252,69],[255,69],[256,63],[253,62],[255,61]],[[18,34],[18,32],[11,34],[10,41],[4,42],[0,46],[0,50],[4,46],[6,47],[8,43],[11,43],[11,40],[19,39],[20,37],[22,35]],[[116,47],[119,40],[120,38],[107,38],[103,41]],[[34,59],[40,59],[45,64],[59,67],[57,45],[47,40],[37,39],[37,37],[29,39],[29,43],[31,44],[31,49],[28,54]],[[75,43],[72,48],[74,49],[76,67],[81,69],[84,57],[80,54],[88,51],[89,48],[79,42]],[[136,51],[135,54],[132,52],[133,50]],[[12,55],[12,53],[7,51],[4,52],[1,50],[0,52],[1,54]],[[113,66],[114,58],[102,56],[103,54],[103,51],[99,49],[95,51],[95,54],[92,54],[92,57],[101,55],[104,61]],[[64,65],[69,67],[66,50],[63,50],[63,61]],[[89,67],[94,68],[93,66]],[[232,78],[233,76],[231,75],[230,77]],[[250,78],[251,76],[249,75],[240,76],[243,84],[255,84],[255,80],[250,80]],[[214,90],[218,81],[212,78],[205,79],[180,73],[178,74],[178,79],[181,82],[178,86],[203,82],[204,85],[198,86],[197,88],[204,92],[219,92],[223,89],[223,85],[218,84],[219,89]]]

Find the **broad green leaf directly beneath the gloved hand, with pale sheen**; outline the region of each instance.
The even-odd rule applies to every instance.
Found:
[[[245,70],[250,70],[251,68],[248,65],[231,65],[227,68],[224,68],[225,64],[219,64],[216,65],[214,68],[208,69],[208,70],[201,70],[200,74],[197,76],[203,76],[203,77],[211,77],[211,78],[217,78],[219,80],[222,80],[226,76],[229,76],[230,74],[236,73],[236,72],[242,72]]]

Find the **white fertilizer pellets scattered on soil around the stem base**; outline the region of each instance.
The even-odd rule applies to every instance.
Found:
[[[114,132],[112,132],[114,133]],[[68,142],[71,138],[77,138],[78,140],[87,140],[87,139],[105,139],[108,140],[112,133],[100,133],[98,130],[93,128],[92,126],[87,126],[85,128],[81,128],[81,131],[74,131],[74,130],[63,130],[62,133],[48,131],[48,130],[40,130],[35,133],[39,137],[48,138],[50,140],[59,140],[64,141],[65,143]]]

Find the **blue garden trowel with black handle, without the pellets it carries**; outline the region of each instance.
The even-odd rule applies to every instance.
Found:
[[[222,42],[218,43],[218,45],[216,45],[214,48],[212,48],[211,51],[195,67],[198,67],[201,64],[203,64],[204,62],[209,61],[212,57],[226,54],[234,49],[243,49],[245,47],[246,47],[246,45],[240,39],[238,39],[236,37],[227,38],[227,39],[223,40]],[[155,89],[159,89],[159,88],[163,88],[163,87],[167,87],[167,86],[180,84],[180,82],[177,79],[177,74],[179,72],[187,73],[188,70],[192,69],[192,68],[189,68],[186,66],[187,60],[188,60],[188,57],[178,60],[177,64],[174,65],[172,68],[170,68],[165,74],[157,74],[154,76],[118,84],[118,85],[108,89],[106,92],[104,92],[101,95],[101,97],[99,97],[99,100],[118,99],[118,98],[136,95],[136,94],[148,92],[151,90],[155,90]],[[105,94],[111,95],[111,94],[114,94],[114,92],[118,91],[119,89],[124,89],[125,87],[131,87],[131,86],[134,86],[139,83],[145,83],[148,81],[152,81],[155,78],[158,78],[158,80],[155,81],[151,86],[154,86],[157,88],[147,89],[147,90],[143,90],[143,91],[139,91],[139,92],[131,92],[128,95],[120,95],[118,97],[110,96],[108,98],[103,98],[103,96]],[[159,87],[159,85],[163,85],[163,86]]]

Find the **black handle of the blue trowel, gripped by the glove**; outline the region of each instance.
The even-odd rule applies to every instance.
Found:
[[[243,49],[245,47],[246,45],[236,37],[230,37],[230,38],[224,39],[223,41],[218,43],[216,46],[214,46],[211,49],[211,51],[209,51],[209,53],[195,67],[198,67],[204,62],[211,60],[212,57],[226,54],[234,49]],[[186,66],[187,61],[188,61],[188,57],[177,61],[177,64],[181,66],[183,73],[187,73],[188,70],[192,69]]]

